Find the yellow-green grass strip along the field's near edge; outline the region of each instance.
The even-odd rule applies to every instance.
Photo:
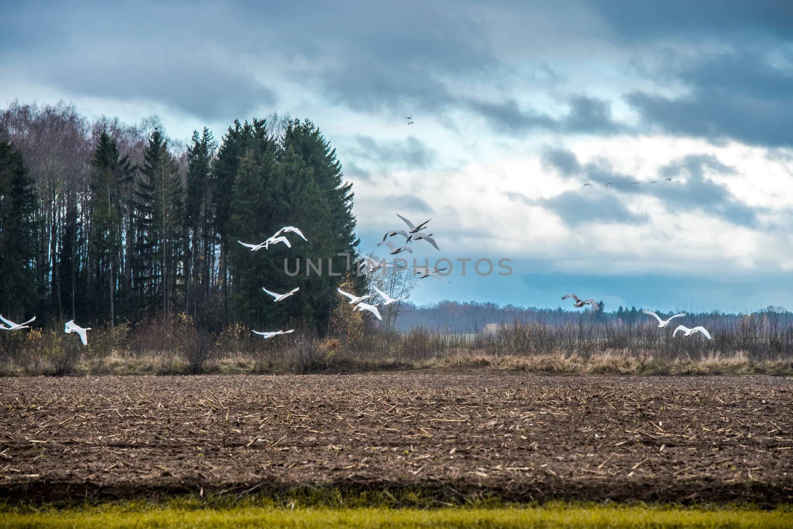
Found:
[[[119,505],[0,512],[0,527],[793,527],[790,508],[568,506],[507,508],[179,508]]]

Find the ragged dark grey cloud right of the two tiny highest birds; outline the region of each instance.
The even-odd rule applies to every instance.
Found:
[[[557,131],[570,134],[610,135],[626,131],[626,127],[611,117],[611,103],[600,99],[572,96],[565,103],[568,112],[554,118],[534,108],[521,108],[518,101],[508,99],[501,103],[469,101],[468,107],[481,114],[497,132],[520,134],[533,130]]]

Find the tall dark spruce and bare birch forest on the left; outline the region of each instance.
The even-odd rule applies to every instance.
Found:
[[[156,119],[90,122],[73,106],[13,103],[0,112],[0,313],[132,324],[187,314],[228,322],[329,325],[341,278],[287,276],[284,258],[346,267],[358,239],[351,184],[310,121],[234,121],[186,145]],[[251,253],[298,226],[293,247]],[[304,268],[305,269],[305,268]],[[290,303],[260,290],[301,287]]]

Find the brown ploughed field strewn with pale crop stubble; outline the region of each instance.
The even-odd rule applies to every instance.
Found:
[[[365,375],[0,379],[0,494],[420,490],[791,501],[791,381]]]

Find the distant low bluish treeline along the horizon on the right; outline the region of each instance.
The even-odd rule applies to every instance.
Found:
[[[603,302],[599,303],[600,310],[592,312],[586,309],[565,310],[561,306],[556,309],[538,308],[535,306],[500,306],[496,303],[457,302],[448,299],[427,306],[415,306],[404,303],[396,329],[407,331],[419,327],[445,333],[477,333],[493,325],[512,325],[514,323],[541,325],[578,325],[584,323],[600,323],[619,326],[644,325],[655,322],[652,316],[642,314],[642,307],[631,306],[630,309],[619,306],[617,310],[603,310]],[[647,307],[645,307],[647,308]],[[668,318],[675,314],[664,312],[655,307],[647,310],[655,311],[661,318]],[[764,310],[753,313],[762,318],[768,325],[775,328],[793,327],[793,312],[778,306],[768,306]],[[697,321],[718,322],[718,325],[734,326],[743,321],[746,314],[726,314],[718,311],[689,313],[686,318],[672,320],[673,323],[688,325]],[[655,324],[653,324],[655,325]],[[695,324],[703,325],[703,324]],[[674,325],[677,326],[677,325]]]

